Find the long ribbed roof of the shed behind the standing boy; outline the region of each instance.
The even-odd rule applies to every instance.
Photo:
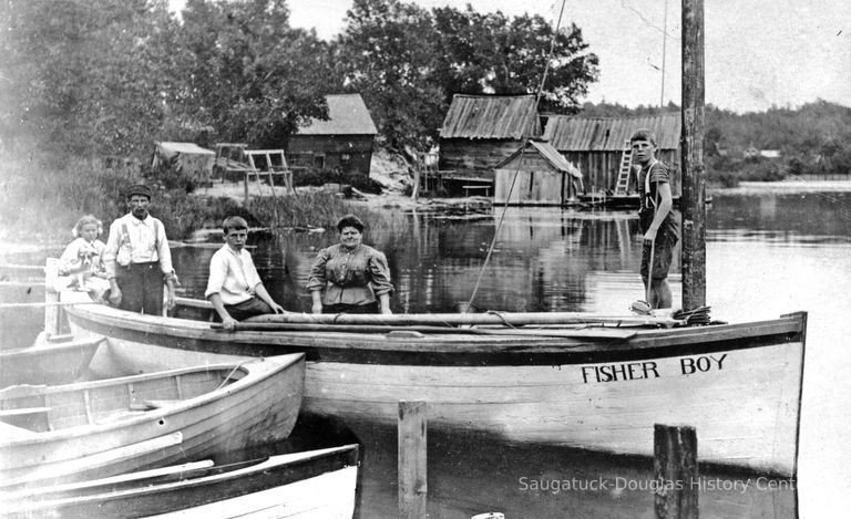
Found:
[[[656,133],[658,149],[679,147],[683,122],[679,113],[642,117],[572,117],[552,115],[544,138],[560,152],[621,152],[638,128]]]

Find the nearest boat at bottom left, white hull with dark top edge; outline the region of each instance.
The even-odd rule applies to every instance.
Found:
[[[351,518],[358,446],[0,494],[0,517]]]

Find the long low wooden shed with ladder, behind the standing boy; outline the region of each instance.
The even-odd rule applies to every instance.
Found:
[[[649,128],[656,133],[656,158],[671,170],[671,190],[680,194],[679,113],[640,117],[572,117],[551,115],[544,139],[548,141],[583,175],[585,189],[615,190],[621,158],[633,132]],[[627,191],[635,190],[632,178]]]

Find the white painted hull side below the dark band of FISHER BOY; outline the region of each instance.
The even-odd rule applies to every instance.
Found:
[[[304,409],[394,424],[400,399],[428,403],[429,426],[484,430],[507,440],[653,456],[654,424],[696,427],[703,461],[792,474],[802,344],[712,353],[722,370],[596,382],[594,366],[385,366],[308,363]],[[615,363],[622,364],[622,363]],[[640,363],[639,363],[640,364]],[[583,370],[588,375],[583,378]],[[643,374],[643,373],[642,373]]]

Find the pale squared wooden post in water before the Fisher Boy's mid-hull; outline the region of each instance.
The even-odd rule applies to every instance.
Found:
[[[399,517],[426,517],[426,403],[399,401]]]

